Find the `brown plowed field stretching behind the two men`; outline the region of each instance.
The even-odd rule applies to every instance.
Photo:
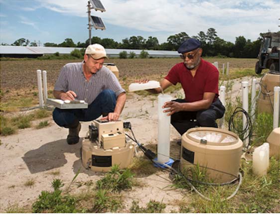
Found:
[[[255,68],[256,59],[235,58],[209,58],[209,62],[219,62],[219,68],[223,63],[230,63],[230,68]],[[47,71],[47,81],[54,85],[59,71],[63,65],[81,60],[28,60],[28,61],[0,61],[0,88],[7,89],[36,88],[36,70]],[[154,59],[110,59],[120,71],[120,80],[124,78],[134,79],[146,76],[155,76],[158,79],[167,74],[173,65],[179,63],[179,58],[154,58]]]

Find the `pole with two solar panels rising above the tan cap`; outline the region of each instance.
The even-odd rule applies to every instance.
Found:
[[[100,10],[101,12],[105,12],[106,9],[104,8],[103,4],[100,0],[89,0],[88,1],[88,29],[89,29],[89,44],[91,45],[91,29],[94,27],[95,29],[105,30],[106,27],[102,21],[102,19],[98,16],[91,15],[91,9],[95,9],[95,11]]]

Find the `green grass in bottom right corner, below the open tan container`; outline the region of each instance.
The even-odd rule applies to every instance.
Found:
[[[235,197],[225,200],[234,192],[237,184],[218,187],[201,185],[200,192],[210,201],[194,192],[187,193],[190,203],[180,202],[179,213],[279,213],[279,168],[279,158],[272,157],[268,175],[258,177],[252,172],[252,162],[242,160],[243,182]],[[178,188],[189,189],[182,178],[177,178],[175,183],[178,182],[181,183]],[[184,208],[183,205],[188,207]]]

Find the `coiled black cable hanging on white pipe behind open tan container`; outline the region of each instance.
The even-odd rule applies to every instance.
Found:
[[[234,123],[234,117],[240,112],[242,112],[246,116],[246,124],[245,124],[244,129],[243,128],[239,129],[237,127],[237,125]],[[252,135],[252,121],[251,121],[249,113],[245,109],[243,109],[241,107],[235,108],[235,110],[233,111],[233,114],[231,115],[231,117],[229,119],[229,130],[233,131],[234,133],[238,133],[239,136],[242,136],[242,137],[240,137],[240,139],[242,141],[244,141],[245,139],[247,139],[249,136]],[[246,133],[247,133],[247,135],[245,136]],[[247,149],[248,149],[249,145],[250,145],[250,139],[249,139],[248,145],[246,146]]]

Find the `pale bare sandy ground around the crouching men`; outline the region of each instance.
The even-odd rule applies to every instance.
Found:
[[[241,95],[241,82],[250,78],[239,79],[233,86],[234,95]],[[175,94],[172,95],[175,97]],[[233,97],[234,98],[234,97]],[[155,100],[154,100],[155,99]],[[154,101],[153,101],[154,100]],[[143,144],[157,142],[157,98],[153,96],[130,96],[121,119],[130,121],[136,137]],[[42,190],[51,191],[51,182],[60,178],[68,185],[80,169],[77,179],[81,182],[99,180],[104,173],[92,172],[82,167],[80,148],[82,137],[85,137],[90,122],[82,122],[80,142],[67,145],[68,130],[57,126],[49,118],[50,125],[42,129],[21,129],[17,134],[1,137],[0,145],[0,213],[8,206],[18,204],[19,207],[30,207]],[[176,130],[170,126],[170,153],[179,156],[179,146],[176,140],[180,138]],[[59,171],[59,175],[52,173]],[[167,205],[165,212],[178,210],[176,202],[187,198],[179,190],[166,188],[171,185],[168,173],[157,171],[155,174],[137,178],[143,183],[141,188],[133,188],[123,193],[124,212],[129,212],[133,200],[140,201],[145,206],[149,200],[156,200]],[[25,186],[28,180],[34,180],[32,187]],[[76,192],[79,192],[77,188]],[[174,204],[172,204],[174,203]]]

